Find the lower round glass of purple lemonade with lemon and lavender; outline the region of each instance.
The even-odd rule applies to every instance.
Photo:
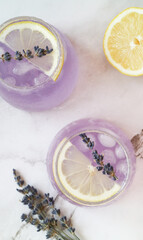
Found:
[[[113,124],[81,119],[63,128],[47,155],[51,182],[72,203],[112,202],[128,188],[135,172],[131,142]]]

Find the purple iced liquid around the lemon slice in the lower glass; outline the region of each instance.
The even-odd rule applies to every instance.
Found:
[[[94,150],[96,149],[99,154],[104,154],[104,164],[110,163],[114,167],[116,176],[118,177],[118,180],[115,182],[120,185],[120,190],[109,199],[100,202],[84,202],[76,199],[74,196],[71,196],[60,183],[58,170],[55,181],[53,174],[53,156],[57,150],[57,146],[65,138],[89,159],[89,163],[97,166],[93,161],[92,150],[82,141],[79,136],[80,133],[86,133],[87,137],[89,137],[91,141],[94,141]],[[65,144],[66,143],[64,143],[64,145]],[[62,147],[59,149],[59,153],[62,151]],[[103,120],[82,119],[69,124],[56,135],[48,152],[47,168],[51,181],[61,196],[72,203],[96,206],[115,199],[129,186],[135,172],[135,156],[131,142],[120,129]]]

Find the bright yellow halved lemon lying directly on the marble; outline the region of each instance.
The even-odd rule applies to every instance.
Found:
[[[121,73],[143,75],[143,9],[128,8],[117,15],[105,32],[103,47]]]

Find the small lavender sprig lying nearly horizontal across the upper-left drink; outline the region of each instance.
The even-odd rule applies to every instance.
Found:
[[[5,52],[4,54],[1,55],[0,59],[3,62],[5,62],[5,61],[10,62],[11,59],[21,61],[23,58],[30,59],[30,58],[34,58],[34,56],[43,57],[47,54],[50,54],[52,51],[53,51],[53,49],[52,48],[49,49],[48,46],[46,46],[46,49],[40,48],[39,46],[35,46],[34,47],[34,54],[29,49],[28,50],[23,49],[23,54],[19,51],[16,51],[15,56],[12,56],[9,52]]]

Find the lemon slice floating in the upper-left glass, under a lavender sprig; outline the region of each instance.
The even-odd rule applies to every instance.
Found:
[[[41,58],[35,56],[28,59],[34,66],[46,75],[56,80],[59,76],[63,61],[63,47],[60,40],[44,25],[34,21],[11,22],[0,31],[0,41],[8,45],[13,51],[31,50],[34,46],[53,49],[50,54]]]

